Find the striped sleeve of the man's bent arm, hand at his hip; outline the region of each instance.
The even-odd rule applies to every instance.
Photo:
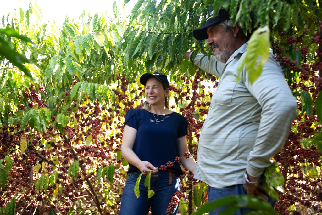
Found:
[[[248,81],[246,71],[243,71],[242,77],[262,109],[256,141],[246,167],[246,171],[253,177],[260,177],[271,164],[270,159],[283,148],[291,122],[297,115],[295,98],[278,63],[270,56],[262,71],[252,84]]]

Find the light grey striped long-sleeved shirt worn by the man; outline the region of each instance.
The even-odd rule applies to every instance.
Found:
[[[226,64],[202,54],[194,59],[202,70],[220,77],[201,129],[194,175],[211,187],[243,184],[245,170],[260,177],[282,149],[297,115],[295,98],[272,54],[254,83],[249,83],[245,67],[236,82],[246,46],[236,50]]]

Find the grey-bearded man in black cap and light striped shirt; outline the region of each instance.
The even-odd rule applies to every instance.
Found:
[[[258,187],[259,178],[288,137],[296,117],[295,98],[271,54],[254,83],[249,82],[245,67],[236,82],[248,37],[238,24],[232,25],[224,9],[193,34],[197,40],[208,39],[214,55],[208,60],[207,55],[197,54],[194,64],[220,77],[201,129],[194,178],[209,185],[209,201],[246,193],[267,200]],[[189,56],[187,52],[185,57]]]

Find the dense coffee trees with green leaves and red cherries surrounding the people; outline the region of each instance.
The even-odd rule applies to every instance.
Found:
[[[127,2],[114,3],[112,18],[83,12],[62,26],[43,23],[36,4],[3,16],[1,210],[118,214],[128,168],[120,151],[122,123],[129,109],[143,105],[138,78],[146,72],[168,74],[170,106],[187,118],[189,150],[197,160],[199,132],[219,80],[198,71],[184,55],[188,50],[211,54],[204,42],[194,40],[192,30],[223,6],[247,34],[269,26],[267,37],[255,32],[253,43],[269,51],[261,44],[270,39],[268,45],[297,98],[298,117],[284,149],[274,157],[282,177],[274,166],[264,176],[265,187],[278,199],[275,209],[280,214],[321,212],[320,5],[297,0],[138,0],[126,17]],[[259,48],[252,51],[260,54]],[[249,73],[256,76],[260,69]],[[169,210],[180,202],[181,214],[199,207],[209,211],[211,206],[202,206],[206,185],[186,170],[181,181]],[[251,207],[252,200],[241,197],[229,203]],[[257,214],[265,214],[263,208]]]

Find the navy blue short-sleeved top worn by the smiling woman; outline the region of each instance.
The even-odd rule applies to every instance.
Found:
[[[164,115],[154,116],[159,121]],[[124,125],[137,130],[133,151],[141,161],[160,167],[180,156],[178,138],[187,135],[187,120],[179,113],[166,114],[163,121],[156,122],[151,112],[131,109],[125,115]],[[128,173],[137,170],[132,164],[129,167]],[[172,169],[182,174],[179,163],[175,162]]]

